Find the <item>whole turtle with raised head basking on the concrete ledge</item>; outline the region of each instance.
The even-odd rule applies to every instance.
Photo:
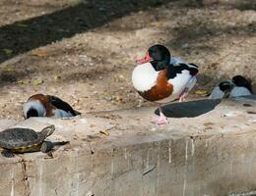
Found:
[[[3,148],[1,154],[4,157],[14,157],[14,153],[49,152],[54,144],[66,144],[67,142],[50,142],[44,141],[46,137],[51,135],[55,130],[55,126],[49,125],[40,132],[36,132],[31,128],[13,127],[0,132],[0,147]]]

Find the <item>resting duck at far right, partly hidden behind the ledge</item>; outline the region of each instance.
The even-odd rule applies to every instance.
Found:
[[[231,80],[219,83],[210,94],[209,99],[233,98],[251,94],[251,82],[241,75],[235,75]]]

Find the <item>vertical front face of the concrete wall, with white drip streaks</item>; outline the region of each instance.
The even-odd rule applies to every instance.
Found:
[[[256,134],[172,138],[1,161],[1,195],[228,195],[256,188]],[[158,137],[158,135],[156,135]],[[122,139],[119,139],[122,142]],[[93,145],[94,146],[94,145]]]

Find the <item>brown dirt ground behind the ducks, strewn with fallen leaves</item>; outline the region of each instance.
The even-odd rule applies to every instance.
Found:
[[[22,119],[34,93],[82,113],[150,105],[131,72],[155,43],[200,67],[195,90],[243,74],[256,92],[255,10],[253,0],[1,0],[0,118]]]

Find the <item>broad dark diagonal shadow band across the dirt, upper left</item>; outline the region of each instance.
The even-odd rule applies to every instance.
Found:
[[[34,48],[105,25],[132,12],[159,7],[171,1],[89,0],[51,14],[1,26],[0,63]]]

